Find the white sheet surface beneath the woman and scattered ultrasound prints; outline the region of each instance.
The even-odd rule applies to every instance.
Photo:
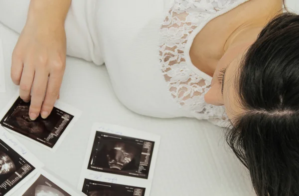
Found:
[[[299,10],[298,0],[287,4]],[[11,53],[17,34],[0,25],[6,93],[0,109],[18,89],[10,80]],[[254,196],[246,170],[224,142],[223,130],[195,119],[155,119],[135,114],[116,98],[107,70],[67,58],[60,100],[81,111],[81,118],[55,153],[16,136],[47,170],[77,187],[94,122],[118,124],[161,136],[151,196]]]

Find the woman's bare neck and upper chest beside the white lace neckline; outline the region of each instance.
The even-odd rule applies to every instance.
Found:
[[[229,48],[252,43],[262,28],[281,12],[282,0],[249,0],[220,15],[195,36],[189,55],[193,65],[213,76],[219,60]],[[223,25],[227,22],[226,25]]]

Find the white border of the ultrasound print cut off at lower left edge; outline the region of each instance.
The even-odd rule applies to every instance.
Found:
[[[16,138],[13,137],[12,134],[10,134],[1,126],[0,139],[35,168],[30,174],[28,174],[28,176],[17,183],[17,185],[15,185],[9,192],[4,195],[12,196],[12,194],[14,194],[15,191],[19,190],[22,185],[28,182],[40,168],[44,167],[44,164],[40,162],[33,154],[31,154]]]

